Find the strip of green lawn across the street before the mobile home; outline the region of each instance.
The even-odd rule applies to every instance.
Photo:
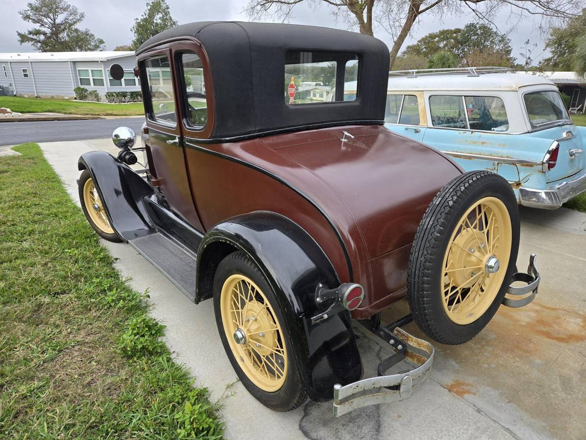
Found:
[[[0,107],[8,107],[18,113],[64,113],[83,116],[134,116],[144,114],[141,102],[107,104],[75,101],[73,99],[25,98],[0,96]]]

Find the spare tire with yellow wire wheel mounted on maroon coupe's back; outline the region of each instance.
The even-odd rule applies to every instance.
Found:
[[[461,344],[488,324],[515,272],[519,229],[515,193],[498,174],[466,172],[438,192],[407,272],[413,319],[425,334]]]

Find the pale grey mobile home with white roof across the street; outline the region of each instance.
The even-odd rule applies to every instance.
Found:
[[[110,77],[113,64],[124,67],[124,79]],[[0,53],[0,94],[71,98],[77,86],[97,90],[102,96],[139,92],[135,65],[134,52]]]

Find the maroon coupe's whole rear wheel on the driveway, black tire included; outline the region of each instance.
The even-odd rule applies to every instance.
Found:
[[[214,276],[214,314],[226,354],[248,392],[274,411],[299,407],[306,394],[285,317],[246,254],[234,252],[220,262]]]

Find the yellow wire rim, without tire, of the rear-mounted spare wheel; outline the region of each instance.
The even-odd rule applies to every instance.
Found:
[[[479,319],[494,301],[509,267],[511,239],[509,211],[496,197],[480,199],[459,219],[440,282],[444,311],[456,324]]]

